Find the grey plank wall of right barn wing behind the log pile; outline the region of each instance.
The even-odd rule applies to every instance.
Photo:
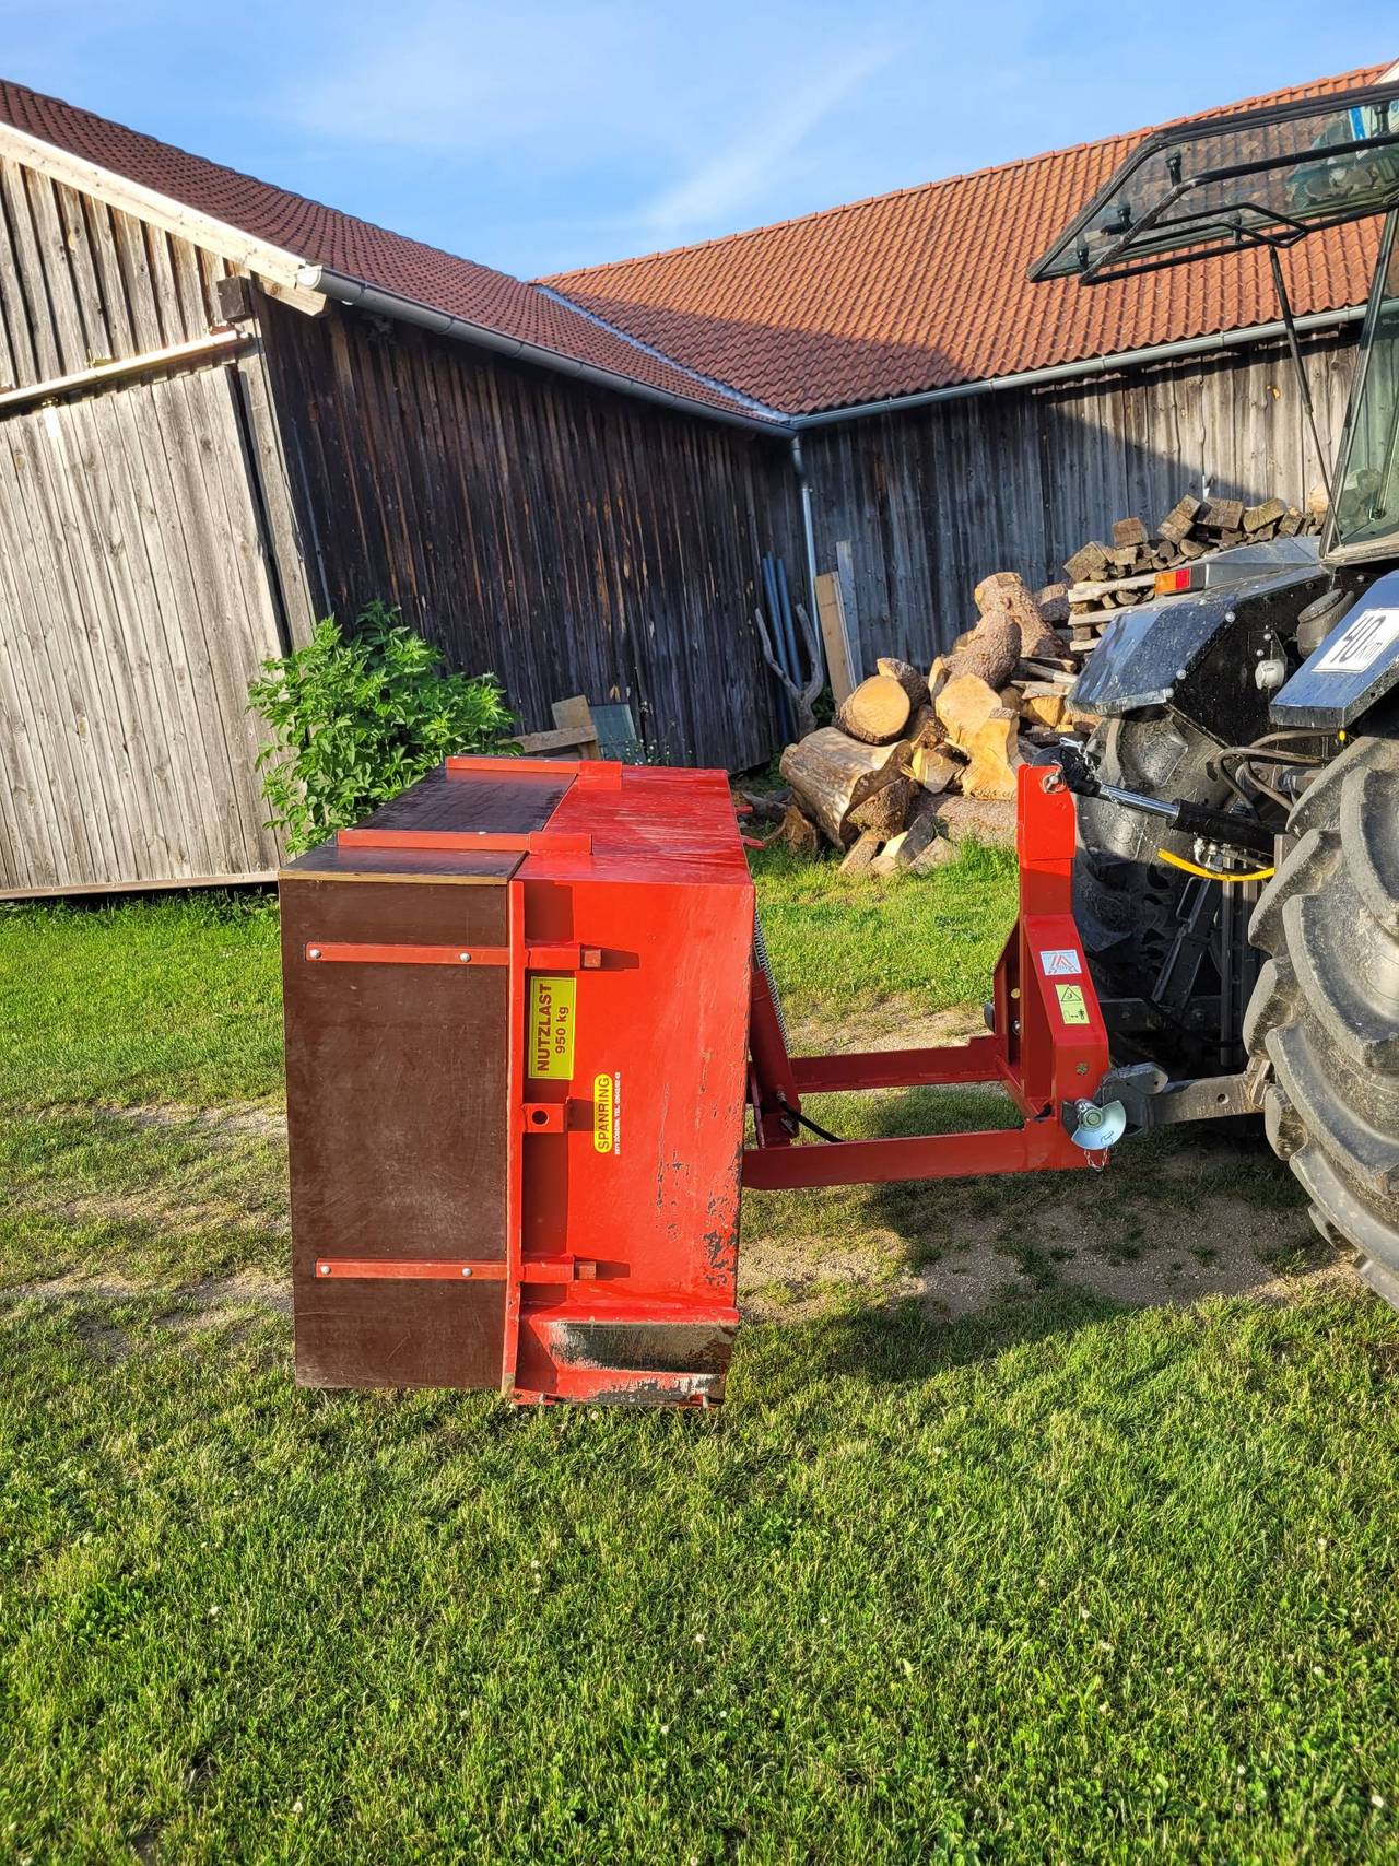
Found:
[[[1311,340],[1306,358],[1332,450],[1354,334]],[[817,569],[836,569],[838,541],[852,543],[867,664],[927,661],[976,620],[981,577],[1050,582],[1114,519],[1153,524],[1207,478],[1250,502],[1302,500],[1323,478],[1287,353],[1272,345],[810,429],[802,452]]]

